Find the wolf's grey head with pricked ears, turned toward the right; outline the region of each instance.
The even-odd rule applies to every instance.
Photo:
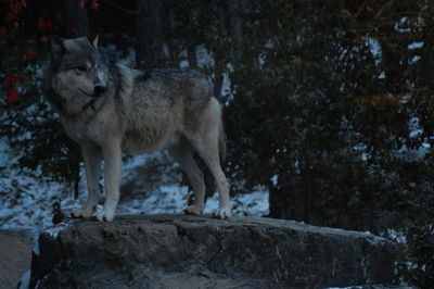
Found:
[[[51,49],[51,86],[64,101],[79,105],[104,93],[108,77],[98,37],[52,40]]]

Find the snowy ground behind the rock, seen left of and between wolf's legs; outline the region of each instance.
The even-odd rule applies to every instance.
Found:
[[[0,228],[40,230],[52,225],[52,206],[55,202],[61,203],[64,212],[79,208],[80,201],[74,200],[69,184],[44,180],[40,172],[17,169],[14,167],[16,159],[14,151],[0,139]],[[154,172],[150,174],[148,171]],[[119,202],[117,214],[182,213],[190,192],[180,185],[179,172],[179,166],[171,163],[167,153],[128,158],[123,165],[122,188],[126,193]],[[82,202],[87,194],[85,177],[79,184],[79,191]],[[259,186],[250,193],[232,196],[231,202],[235,215],[268,214],[266,187]],[[215,193],[206,201],[204,213],[212,213],[217,205],[218,196]]]

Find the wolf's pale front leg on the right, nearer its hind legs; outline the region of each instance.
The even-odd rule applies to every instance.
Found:
[[[113,221],[119,201],[122,150],[120,140],[110,139],[102,148],[104,158],[105,202],[101,212],[95,214],[99,221]]]

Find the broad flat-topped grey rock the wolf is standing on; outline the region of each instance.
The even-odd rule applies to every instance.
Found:
[[[30,288],[322,288],[394,281],[370,234],[260,217],[67,221],[39,236]]]

